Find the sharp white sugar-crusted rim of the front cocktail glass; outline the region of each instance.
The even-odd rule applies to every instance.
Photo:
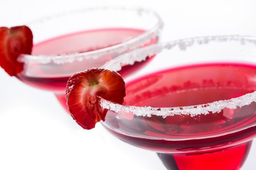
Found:
[[[151,45],[141,49],[137,49],[125,54],[120,55],[116,59],[106,63],[102,68],[118,71],[122,66],[133,65],[135,62],[145,60],[148,56],[159,53],[163,50],[170,50],[176,46],[180,50],[186,50],[186,48],[193,45],[207,44],[210,42],[225,42],[225,41],[238,41],[241,44],[252,43],[256,45],[255,36],[243,36],[243,35],[221,35],[221,36],[202,36],[194,38],[179,39],[162,44]],[[139,54],[139,55],[138,55]],[[138,107],[122,105],[114,102],[109,102],[100,98],[100,106],[105,109],[112,110],[114,112],[125,111],[131,112],[136,116],[157,115],[162,117],[174,116],[174,115],[190,115],[191,117],[197,115],[207,115],[209,113],[219,113],[224,108],[236,109],[249,105],[252,102],[256,102],[256,91],[247,93],[243,96],[232,98],[229,100],[220,100],[216,102],[210,102],[206,104],[191,105],[184,107]]]

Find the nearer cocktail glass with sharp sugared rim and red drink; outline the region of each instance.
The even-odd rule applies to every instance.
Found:
[[[180,39],[125,53],[103,68],[156,54],[124,77],[123,105],[100,99],[103,126],[156,152],[168,170],[239,170],[256,136],[256,37]]]

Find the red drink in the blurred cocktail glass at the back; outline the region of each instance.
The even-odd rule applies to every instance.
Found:
[[[144,32],[145,31],[139,29],[110,28],[68,34],[36,44],[33,47],[32,53],[34,55],[58,55],[73,52],[94,51],[125,42]],[[154,44],[156,42],[157,38],[153,38],[149,42],[145,42],[144,46]],[[61,105],[64,106],[64,108],[66,108],[64,93],[66,83],[69,77],[75,74],[76,72],[84,71],[88,68],[100,67],[105,62],[113,59],[113,57],[116,56],[107,56],[104,57],[104,59],[99,58],[94,60],[87,60],[86,64],[77,62],[74,64],[71,63],[69,65],[55,65],[54,67],[59,67],[57,71],[51,71],[51,66],[47,66],[48,68],[43,68],[40,65],[32,65],[28,67],[34,67],[33,69],[35,71],[33,71],[33,73],[36,72],[37,76],[25,76],[21,74],[18,78],[28,85],[43,90],[53,91],[57,94],[57,98]],[[138,67],[142,67],[143,63],[137,65]],[[67,70],[69,73],[66,73]],[[49,73],[51,75],[50,77],[47,76]]]

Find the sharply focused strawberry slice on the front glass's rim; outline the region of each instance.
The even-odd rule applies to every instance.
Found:
[[[125,86],[120,74],[92,68],[69,78],[67,106],[73,119],[84,129],[92,129],[99,120],[105,120],[107,110],[100,107],[97,96],[121,104],[125,97]]]

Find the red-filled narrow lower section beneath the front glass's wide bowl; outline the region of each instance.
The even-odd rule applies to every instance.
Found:
[[[252,145],[252,140],[241,145],[200,154],[157,153],[167,170],[239,170]]]

